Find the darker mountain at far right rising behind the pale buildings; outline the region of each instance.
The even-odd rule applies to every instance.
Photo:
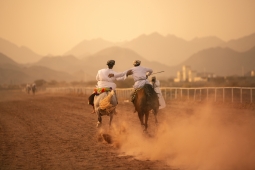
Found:
[[[210,72],[218,76],[242,76],[243,73],[255,70],[255,46],[245,52],[237,52],[222,47],[202,50],[176,67],[181,68],[183,65],[189,65],[193,70],[200,73]]]

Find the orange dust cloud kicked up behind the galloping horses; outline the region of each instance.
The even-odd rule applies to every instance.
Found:
[[[207,105],[185,111],[185,107],[191,106],[161,115],[153,135],[151,126],[144,134],[140,126],[123,122],[115,135],[121,154],[164,160],[177,169],[255,169],[254,110]]]

